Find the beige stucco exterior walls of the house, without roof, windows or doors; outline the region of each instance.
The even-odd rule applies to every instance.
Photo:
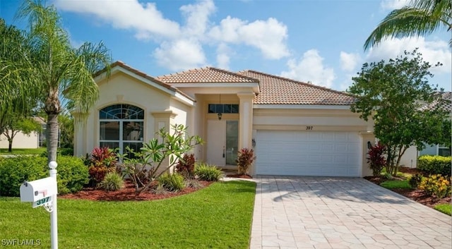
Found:
[[[160,128],[169,130],[173,124],[188,126],[191,135],[205,141],[194,149],[198,161],[207,161],[209,120],[218,115],[208,113],[208,104],[238,104],[238,114],[222,114],[222,121],[238,121],[238,148],[252,147],[257,130],[346,131],[359,135],[362,176],[371,172],[365,159],[367,142],[374,143],[373,123],[362,121],[348,106],[261,105],[254,104],[259,93],[258,83],[175,83],[165,87],[120,66],[112,68],[109,78],[96,78],[100,98],[85,121],[76,125],[74,152],[81,156],[100,145],[99,111],[113,104],[131,104],[144,110],[144,142],[155,137]],[[177,89],[177,90],[176,90]],[[82,115],[74,113],[76,120]],[[254,167],[250,170],[255,173]],[[370,173],[371,174],[371,173]]]

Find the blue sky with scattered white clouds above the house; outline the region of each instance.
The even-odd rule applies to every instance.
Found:
[[[432,65],[432,85],[451,90],[450,32],[385,40],[364,51],[372,30],[409,0],[48,0],[78,47],[104,42],[114,61],[153,77],[213,66],[246,69],[346,90],[362,63],[419,48]],[[0,17],[14,18],[17,0],[0,0]]]

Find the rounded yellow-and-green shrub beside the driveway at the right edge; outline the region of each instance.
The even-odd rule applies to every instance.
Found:
[[[451,195],[451,181],[439,174],[423,178],[419,188],[424,190],[427,195],[436,198]]]

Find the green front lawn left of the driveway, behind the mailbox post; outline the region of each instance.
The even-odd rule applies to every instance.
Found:
[[[256,183],[213,183],[165,200],[58,200],[59,248],[248,248]],[[0,198],[2,239],[40,239],[50,248],[49,214]],[[11,247],[13,248],[13,247]]]

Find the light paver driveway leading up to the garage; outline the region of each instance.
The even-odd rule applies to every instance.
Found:
[[[362,178],[257,176],[255,248],[447,248],[451,217]]]

